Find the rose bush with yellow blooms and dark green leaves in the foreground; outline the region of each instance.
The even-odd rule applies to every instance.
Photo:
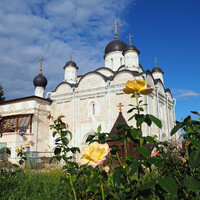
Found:
[[[124,92],[136,98],[136,105],[130,105],[128,110],[128,113],[133,113],[129,120],[134,119],[135,125],[118,124],[118,132],[112,136],[102,133],[99,126],[95,134],[88,136],[88,146],[82,148],[81,155],[77,147],[69,147],[72,133],[61,117],[53,120],[51,129],[54,130],[55,155],[51,161],[64,161],[65,176],[61,183],[68,186],[66,199],[199,198],[200,121],[188,116],[172,129],[171,136],[179,129],[183,130],[185,149],[168,141],[160,143],[154,137],[143,136],[144,124],[151,126],[154,123],[158,128],[162,127],[159,119],[144,113],[144,104],[139,101],[140,95],[148,95],[152,90],[142,79],[128,81]],[[200,116],[197,112],[193,113]],[[120,149],[116,145],[108,146],[108,138],[121,144],[125,152],[123,158],[119,156]],[[128,143],[134,147],[137,156],[127,151]],[[80,157],[78,163],[77,157]]]

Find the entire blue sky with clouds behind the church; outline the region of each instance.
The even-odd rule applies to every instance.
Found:
[[[104,66],[104,49],[114,39],[109,27],[123,24],[118,38],[133,34],[144,70],[154,58],[176,98],[176,117],[200,111],[199,0],[1,0],[0,84],[6,100],[34,94],[42,56],[46,91],[63,81],[73,51],[78,75]]]

